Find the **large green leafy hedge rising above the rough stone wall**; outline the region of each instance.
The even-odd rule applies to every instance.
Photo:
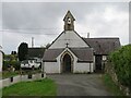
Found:
[[[118,81],[131,89],[131,45],[110,53],[109,61],[115,68]]]

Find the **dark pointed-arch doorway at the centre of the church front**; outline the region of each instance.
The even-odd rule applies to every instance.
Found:
[[[71,72],[71,57],[66,53],[63,57],[63,73]]]

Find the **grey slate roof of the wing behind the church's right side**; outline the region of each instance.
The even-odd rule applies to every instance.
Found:
[[[95,54],[108,54],[120,47],[119,38],[83,38]]]

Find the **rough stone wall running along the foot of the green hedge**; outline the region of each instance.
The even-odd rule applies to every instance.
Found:
[[[119,86],[120,90],[124,95],[131,96],[131,90],[129,89],[129,87],[126,87],[119,83],[119,81],[117,78],[117,74],[115,73],[115,69],[112,68],[112,64],[110,62],[105,63],[105,73],[108,73],[111,76],[115,84]]]

